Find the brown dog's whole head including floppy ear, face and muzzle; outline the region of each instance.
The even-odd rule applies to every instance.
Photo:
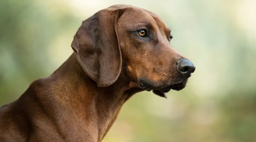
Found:
[[[165,97],[181,90],[194,64],[171,47],[172,34],[156,14],[113,5],[82,22],[71,47],[86,74],[99,87],[112,85],[123,68],[139,87]]]

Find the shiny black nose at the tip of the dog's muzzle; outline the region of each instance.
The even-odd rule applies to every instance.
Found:
[[[177,68],[186,78],[189,78],[195,72],[195,65],[187,59],[181,59],[177,64]]]

